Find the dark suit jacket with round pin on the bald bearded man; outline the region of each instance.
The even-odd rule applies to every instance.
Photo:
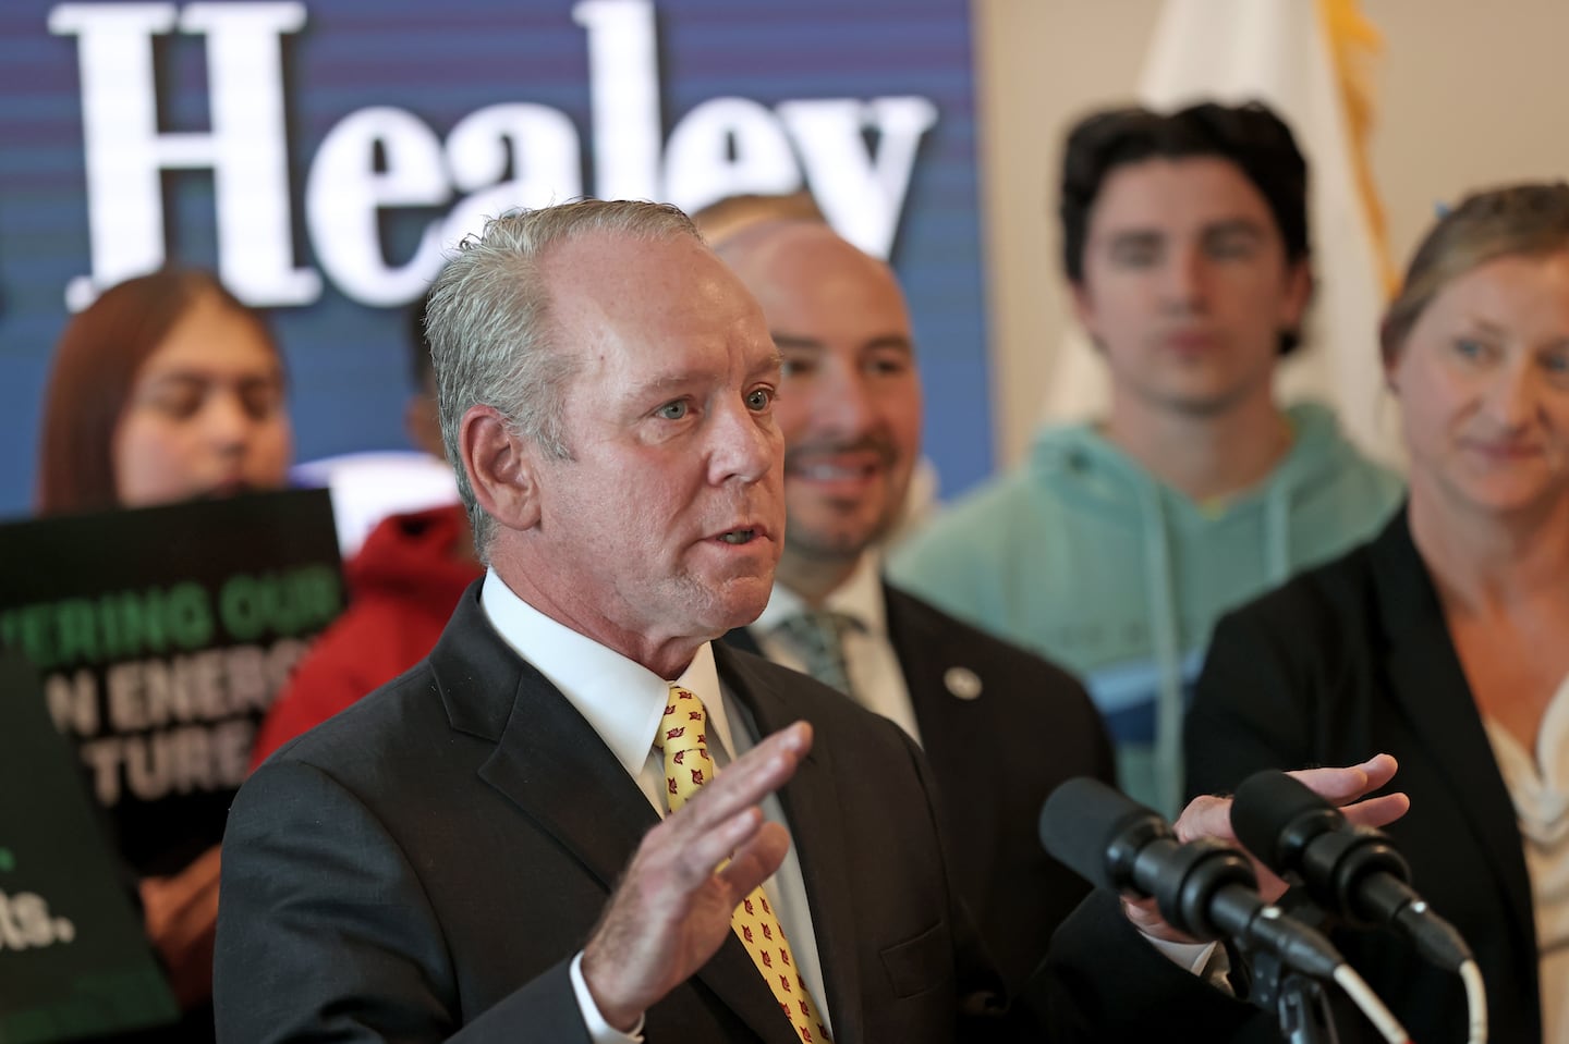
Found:
[[[1036,970],[1051,933],[1089,884],[1040,846],[1040,806],[1058,784],[1094,776],[1116,785],[1111,741],[1084,687],[1040,657],[883,585],[899,657],[937,779],[959,894],[1009,988]],[[725,641],[761,654],[748,629]],[[981,682],[962,699],[954,668]]]

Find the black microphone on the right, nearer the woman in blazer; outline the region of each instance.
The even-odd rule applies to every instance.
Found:
[[[1236,788],[1232,829],[1280,876],[1291,875],[1324,909],[1356,928],[1393,925],[1440,967],[1470,959],[1453,925],[1411,887],[1411,867],[1389,837],[1359,826],[1282,771],[1254,773]]]

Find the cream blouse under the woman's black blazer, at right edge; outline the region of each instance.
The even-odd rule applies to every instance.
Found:
[[[1569,1033],[1569,677],[1547,704],[1534,757],[1494,718],[1484,715],[1483,724],[1525,843],[1542,1039],[1563,1041]]]

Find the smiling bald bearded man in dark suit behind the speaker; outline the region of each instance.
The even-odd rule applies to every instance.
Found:
[[[1040,848],[1037,821],[1064,779],[1112,782],[1100,713],[1045,660],[879,578],[874,544],[899,516],[921,442],[915,339],[888,265],[802,219],[763,221],[717,251],[784,357],[775,417],[789,517],[767,608],[726,641],[811,671],[824,657],[797,629],[813,611],[838,616],[843,630],[825,632],[841,635],[849,694],[926,751],[959,892],[1018,986],[1089,892]]]

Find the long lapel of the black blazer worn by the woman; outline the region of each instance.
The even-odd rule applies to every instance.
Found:
[[[1503,884],[1514,930],[1525,933],[1525,945],[1534,953],[1531,886],[1514,803],[1404,511],[1373,544],[1371,563],[1382,625],[1390,636],[1387,669],[1395,701],[1434,760],[1447,768],[1450,793]]]

